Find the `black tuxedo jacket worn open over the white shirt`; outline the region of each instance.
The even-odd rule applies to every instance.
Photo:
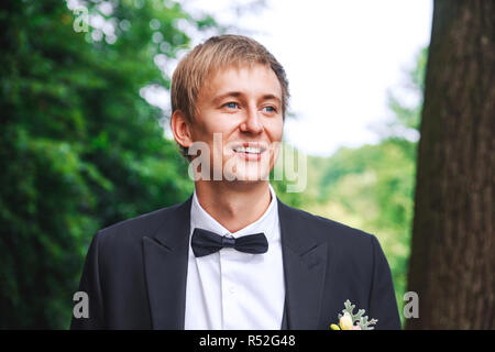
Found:
[[[349,299],[400,329],[391,270],[376,238],[278,199],[285,275],[282,328],[329,329]],[[72,329],[184,329],[191,197],[100,230],[89,248],[79,290],[89,318]],[[262,255],[262,254],[261,254]]]

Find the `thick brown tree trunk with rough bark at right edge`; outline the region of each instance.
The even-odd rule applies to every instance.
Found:
[[[418,150],[407,329],[495,329],[493,0],[437,0]]]

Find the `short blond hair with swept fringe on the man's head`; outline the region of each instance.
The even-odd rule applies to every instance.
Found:
[[[254,64],[266,65],[275,73],[282,87],[282,116],[285,118],[289,91],[284,67],[256,41],[231,34],[210,37],[179,62],[172,77],[172,113],[180,110],[193,122],[199,91],[209,75],[220,68]]]

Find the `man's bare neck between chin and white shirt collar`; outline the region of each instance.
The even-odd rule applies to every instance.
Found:
[[[230,232],[237,232],[260,219],[270,206],[268,182],[226,184],[196,182],[201,207]]]

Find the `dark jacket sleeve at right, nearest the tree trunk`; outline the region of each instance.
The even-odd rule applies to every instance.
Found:
[[[375,326],[377,330],[400,330],[400,318],[388,262],[374,235],[372,237],[372,245],[373,280],[370,293],[369,317],[378,320]]]

